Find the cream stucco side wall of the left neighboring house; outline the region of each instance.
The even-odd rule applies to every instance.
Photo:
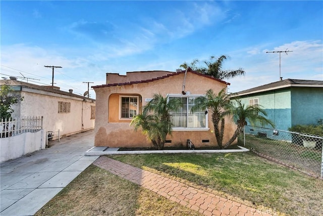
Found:
[[[91,118],[91,105],[94,102],[73,99],[72,97],[55,97],[32,92],[21,92],[24,100],[14,106],[14,115],[20,116],[43,116],[43,129],[67,135],[79,132],[82,129],[93,128],[95,119]],[[59,113],[59,101],[70,102],[70,113]],[[17,107],[18,106],[18,107]],[[82,125],[83,124],[83,125]],[[45,135],[44,135],[45,136]]]

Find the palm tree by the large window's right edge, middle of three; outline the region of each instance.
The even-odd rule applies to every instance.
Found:
[[[220,149],[223,149],[222,141],[224,135],[225,117],[231,114],[233,104],[230,102],[229,96],[226,94],[226,89],[223,89],[216,95],[213,90],[207,90],[205,97],[195,99],[196,105],[191,109],[191,112],[208,109],[211,112],[212,123],[214,126],[214,135],[216,136]],[[221,122],[221,125],[219,125]]]

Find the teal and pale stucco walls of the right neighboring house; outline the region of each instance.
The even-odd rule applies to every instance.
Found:
[[[323,119],[323,88],[293,87],[241,96],[244,104],[258,98],[258,103],[267,112],[267,118],[276,129],[287,131],[296,124],[315,124]]]

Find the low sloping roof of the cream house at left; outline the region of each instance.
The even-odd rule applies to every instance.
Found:
[[[23,82],[23,81],[12,80],[12,79],[0,80],[0,81],[1,81],[0,82],[1,84],[5,83],[5,81],[8,81],[8,84],[12,87],[24,87],[27,89],[41,90],[41,91],[44,91],[47,93],[56,93],[56,94],[60,94],[60,95],[95,101],[95,99],[92,99],[92,98],[87,98],[87,97],[83,97],[81,95],[61,91],[59,87],[52,87],[51,85],[36,85],[36,84],[29,83],[29,82]],[[20,90],[14,89],[14,90],[21,91],[21,89]]]

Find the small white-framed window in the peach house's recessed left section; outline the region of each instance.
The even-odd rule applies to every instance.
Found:
[[[139,112],[138,96],[120,96],[120,118],[133,118]]]

